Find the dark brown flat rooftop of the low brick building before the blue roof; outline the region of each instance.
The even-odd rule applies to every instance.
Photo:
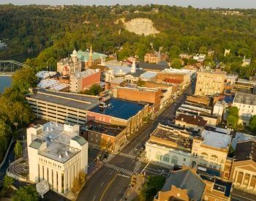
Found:
[[[99,121],[89,121],[81,129],[87,129],[93,132],[99,132],[102,134],[108,134],[116,137],[120,132],[125,129],[125,126],[118,126],[113,124],[105,124]]]

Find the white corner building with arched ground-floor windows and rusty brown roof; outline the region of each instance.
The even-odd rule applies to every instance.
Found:
[[[146,143],[146,159],[165,167],[195,167],[197,157],[191,154],[192,138],[186,130],[159,124]]]

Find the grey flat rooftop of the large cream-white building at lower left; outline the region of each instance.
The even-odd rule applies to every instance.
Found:
[[[31,145],[34,141],[39,143],[39,140],[47,143],[47,148],[39,151],[39,155],[64,163],[80,152],[78,148],[69,146],[70,140],[78,136],[79,129],[70,130],[69,125],[58,124],[53,121],[42,125],[42,127],[43,132],[33,136],[34,139],[32,139],[31,143]]]

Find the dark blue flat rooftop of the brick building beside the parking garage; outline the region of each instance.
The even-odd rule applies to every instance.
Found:
[[[105,104],[105,108],[100,108],[97,105],[97,107],[94,107],[90,111],[127,120],[145,107],[145,104],[129,102],[123,99],[109,99]]]

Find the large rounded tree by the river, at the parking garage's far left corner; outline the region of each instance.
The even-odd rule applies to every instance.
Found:
[[[30,87],[37,85],[37,76],[34,69],[23,67],[12,75],[12,87],[17,88],[22,94],[26,94]]]

